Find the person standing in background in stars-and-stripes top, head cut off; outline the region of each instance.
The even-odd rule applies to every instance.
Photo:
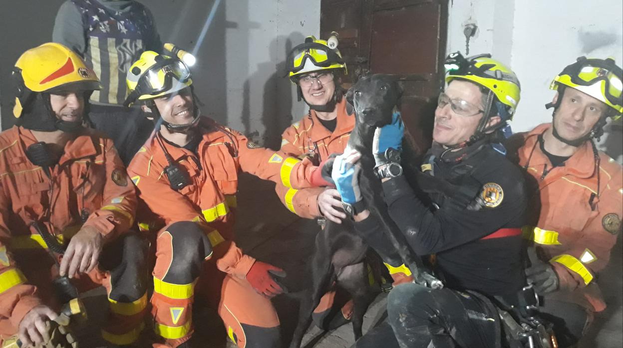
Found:
[[[60,6],[52,40],[82,56],[102,81],[91,96],[93,127],[113,139],[128,164],[153,131],[140,108],[125,108],[126,73],[146,50],[161,52],[151,12],[134,0],[67,0]]]

